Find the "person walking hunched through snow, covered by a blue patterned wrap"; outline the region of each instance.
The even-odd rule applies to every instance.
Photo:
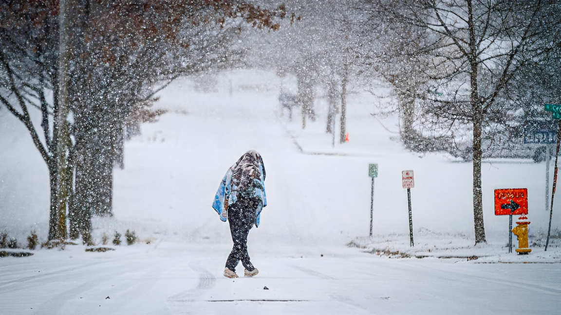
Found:
[[[220,220],[228,220],[234,243],[224,268],[226,277],[238,277],[236,266],[240,261],[246,277],[259,273],[247,253],[247,235],[253,225],[259,226],[261,210],[267,205],[264,182],[263,159],[257,151],[250,150],[228,169],[214,196],[213,209]]]

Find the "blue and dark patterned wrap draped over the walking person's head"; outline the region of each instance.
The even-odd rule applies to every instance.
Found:
[[[243,174],[246,174],[242,170],[247,169],[250,169],[249,174],[251,174],[251,178],[242,178]],[[257,170],[259,174],[255,174],[253,170]],[[222,182],[220,182],[212,204],[214,210],[220,215],[220,220],[226,222],[228,219],[228,205],[233,205],[237,201],[237,191],[242,186],[249,186],[250,189],[253,189],[255,196],[261,200],[259,206],[255,209],[255,227],[257,227],[259,226],[261,210],[267,205],[267,197],[265,194],[265,166],[263,165],[261,155],[254,150],[247,151],[242,155],[228,169]]]

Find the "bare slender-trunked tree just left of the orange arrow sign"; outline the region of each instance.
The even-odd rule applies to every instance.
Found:
[[[379,34],[378,40],[404,47],[407,58],[398,71],[378,67],[388,81],[407,96],[402,105],[408,135],[422,136],[429,129],[436,137],[456,141],[471,129],[473,161],[473,217],[476,243],[484,243],[482,212],[482,139],[504,123],[503,94],[517,73],[543,49],[537,44],[542,1],[374,1],[367,6],[370,21],[407,30],[396,36]],[[402,35],[411,35],[408,40]],[[403,40],[406,40],[403,42]],[[393,50],[395,52],[395,49]],[[376,51],[380,61],[395,60]],[[392,64],[394,66],[394,64]],[[411,69],[413,71],[403,71]],[[410,76],[410,74],[413,74]],[[419,80],[417,80],[419,79]],[[399,84],[395,82],[398,81]],[[415,118],[415,112],[421,114]],[[413,127],[414,123],[417,127]],[[415,130],[417,129],[417,130]],[[456,133],[455,133],[456,132]]]

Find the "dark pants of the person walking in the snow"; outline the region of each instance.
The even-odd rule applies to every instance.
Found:
[[[228,222],[234,242],[232,252],[226,261],[229,270],[236,271],[240,260],[247,271],[255,269],[247,253],[247,234],[255,224],[255,205],[255,200],[239,198],[233,205],[228,206]]]

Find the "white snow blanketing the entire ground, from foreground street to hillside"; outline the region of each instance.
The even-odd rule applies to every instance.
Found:
[[[126,143],[125,169],[115,170],[115,216],[94,221],[99,246],[103,233],[111,243],[127,229],[140,241],[106,245],[115,249],[107,252],[66,245],[0,258],[0,313],[559,312],[561,214],[555,202],[545,252],[544,163],[483,164],[488,242],[474,246],[471,163],[403,149],[396,118],[371,115],[386,100],[359,89],[348,100],[350,141],[333,145],[321,94],[318,119],[302,129],[299,113],[292,121],[281,115],[281,83],[285,91],[295,85],[241,71],[220,77],[212,92],[189,80],[162,91],[157,106],[168,113]],[[49,196],[47,168],[20,125],[0,110],[0,231],[25,244],[31,230],[46,237]],[[261,153],[267,173],[268,206],[249,235],[260,272],[228,279],[222,272],[232,241],[210,205],[227,168],[250,149]],[[379,165],[371,238],[369,163]],[[402,170],[415,172],[415,247]],[[528,189],[526,256],[508,253],[508,217],[494,215],[496,188]]]

